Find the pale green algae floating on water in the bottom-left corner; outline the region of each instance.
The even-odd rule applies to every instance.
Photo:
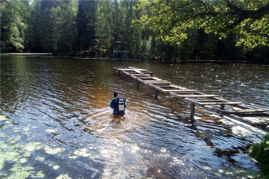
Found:
[[[9,124],[8,118],[4,115],[0,115],[0,120]],[[1,179],[25,179],[25,178],[45,178],[42,171],[35,171],[36,169],[27,165],[29,157],[39,149],[45,149],[48,154],[57,154],[65,151],[64,148],[60,147],[49,147],[44,146],[41,142],[27,142],[35,137],[35,134],[31,132],[31,128],[37,128],[32,125],[27,125],[24,127],[13,127],[11,130],[14,132],[15,136],[9,136],[4,131],[13,125],[5,125],[5,130],[0,131],[0,176]],[[10,131],[10,130],[9,130]],[[19,133],[19,135],[17,135]],[[22,136],[28,137],[26,141],[21,141]],[[55,145],[57,146],[57,145]],[[36,157],[36,161],[43,162],[45,158]],[[10,168],[5,166],[10,166]],[[54,170],[60,167],[53,166]],[[70,179],[68,175],[60,175],[59,179]]]

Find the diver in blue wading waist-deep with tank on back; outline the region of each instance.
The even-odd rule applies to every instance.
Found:
[[[126,100],[123,96],[118,96],[118,92],[114,92],[114,98],[110,101],[110,107],[113,108],[114,115],[124,115],[127,106]]]

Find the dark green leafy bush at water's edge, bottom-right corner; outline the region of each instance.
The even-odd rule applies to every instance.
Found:
[[[263,137],[261,143],[254,144],[251,147],[251,155],[261,164],[264,179],[269,179],[269,134]]]

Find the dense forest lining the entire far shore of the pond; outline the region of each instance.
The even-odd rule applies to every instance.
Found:
[[[0,50],[269,63],[269,0],[1,0]]]

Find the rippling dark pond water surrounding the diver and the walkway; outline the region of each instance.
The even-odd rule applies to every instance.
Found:
[[[1,57],[0,178],[258,177],[248,153],[263,133],[113,73],[112,60]],[[175,85],[269,108],[269,66],[131,61]],[[114,90],[127,99],[120,120]],[[241,135],[239,135],[241,134]],[[245,135],[242,137],[242,135]]]

